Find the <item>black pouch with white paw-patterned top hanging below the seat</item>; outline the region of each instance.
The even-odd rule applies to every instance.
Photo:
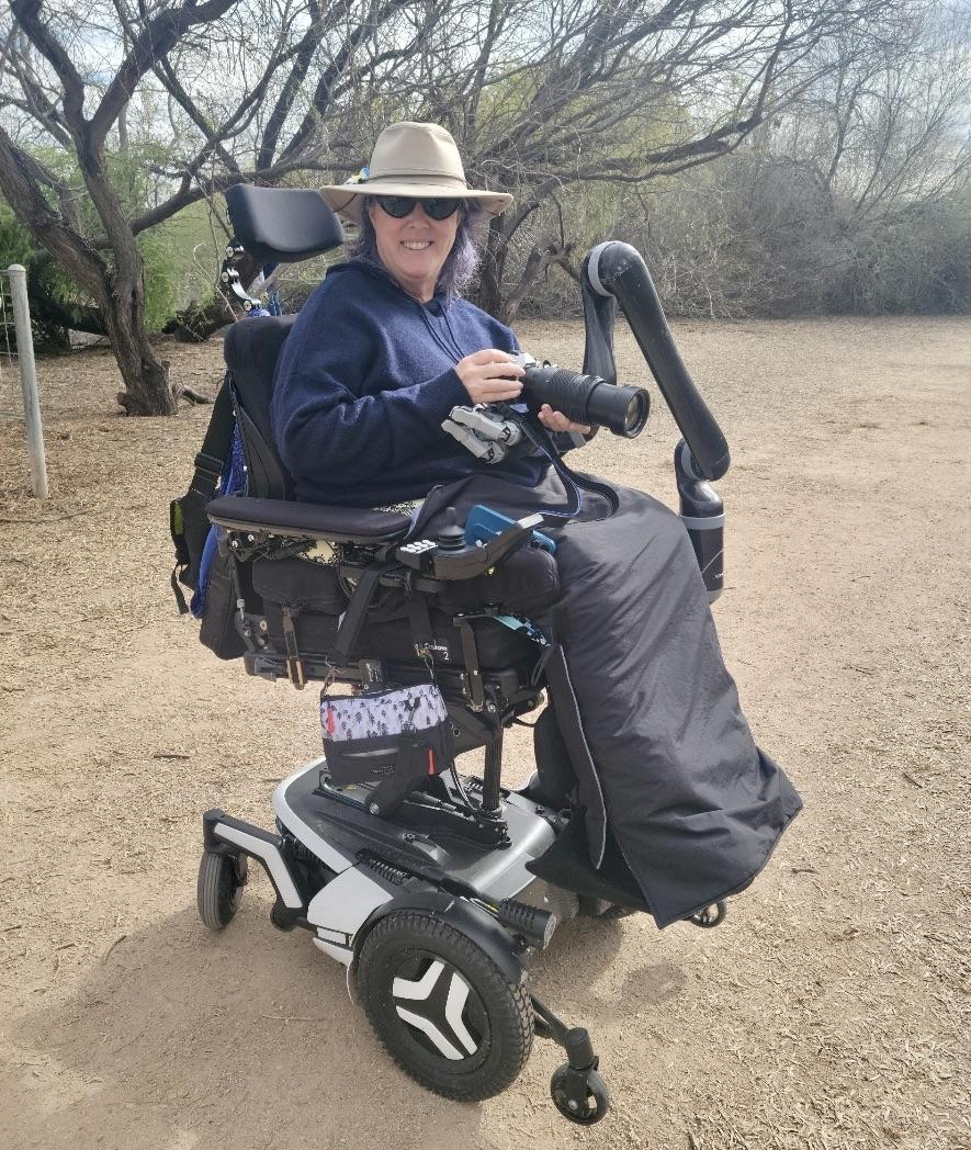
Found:
[[[434,683],[352,698],[329,698],[324,688],[320,726],[330,782],[373,787],[372,814],[390,814],[454,758],[449,712]]]

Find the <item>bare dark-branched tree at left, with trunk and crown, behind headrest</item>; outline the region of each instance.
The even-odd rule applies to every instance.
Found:
[[[175,396],[144,324],[137,237],[239,181],[275,183],[319,167],[322,126],[354,77],[403,59],[406,41],[357,56],[403,0],[184,0],[170,7],[113,0],[83,13],[69,3],[12,0],[0,48],[0,192],[35,238],[97,302],[133,414],[168,414]],[[312,63],[315,84],[307,89]],[[125,212],[109,153],[129,146],[136,94],[165,133],[155,202]],[[45,148],[69,154],[72,186]],[[94,227],[86,221],[93,207]]]

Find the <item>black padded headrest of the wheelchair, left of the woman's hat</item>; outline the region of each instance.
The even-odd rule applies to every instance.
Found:
[[[344,243],[341,222],[313,190],[234,184],[225,205],[236,238],[261,263],[298,263]]]

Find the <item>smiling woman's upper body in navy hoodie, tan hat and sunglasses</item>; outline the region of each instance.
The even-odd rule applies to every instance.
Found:
[[[521,391],[515,336],[458,297],[477,263],[476,216],[512,197],[468,189],[452,137],[411,123],[381,133],[366,183],[322,194],[361,235],[301,309],[277,368],[277,443],[297,498],[374,507],[471,471],[534,486],[545,461],[528,445],[497,470],[442,430],[456,406]],[[540,417],[589,430],[549,407]]]

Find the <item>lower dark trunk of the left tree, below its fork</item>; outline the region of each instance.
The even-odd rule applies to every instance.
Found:
[[[145,332],[144,290],[138,260],[137,279],[109,273],[99,300],[112,351],[125,390],[118,402],[128,415],[175,415],[175,394],[167,360],[158,360]]]

